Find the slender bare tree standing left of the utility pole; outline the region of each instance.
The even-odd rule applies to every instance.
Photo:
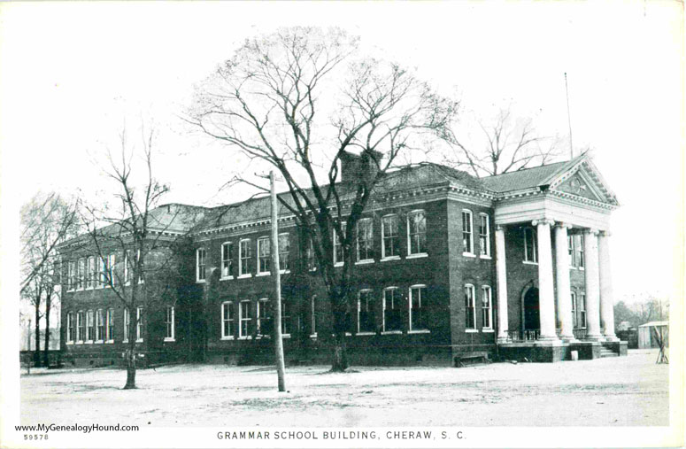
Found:
[[[143,320],[138,307],[151,312],[163,298],[175,297],[173,290],[182,277],[177,245],[186,233],[172,230],[193,221],[188,207],[158,207],[169,187],[153,174],[155,135],[154,129],[146,132],[142,127],[141,145],[133,145],[127,141],[126,129],[122,130],[119,150],[108,151],[108,165],[103,167],[116,186],[113,201],[81,202],[86,232],[72,248],[96,254],[102,269],[91,274],[99,277],[93,282],[112,291],[128,316],[124,389],[136,388],[136,329]]]

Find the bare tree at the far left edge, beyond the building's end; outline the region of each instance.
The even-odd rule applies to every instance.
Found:
[[[35,360],[40,358],[41,319],[45,317],[44,364],[50,346],[50,310],[60,294],[58,244],[77,232],[74,204],[58,194],[37,193],[20,210],[21,273],[20,295],[35,311]]]

